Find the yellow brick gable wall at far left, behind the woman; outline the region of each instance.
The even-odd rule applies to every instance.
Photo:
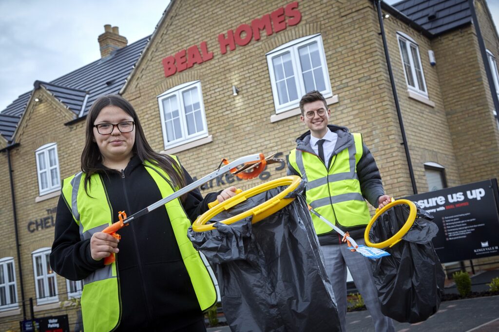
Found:
[[[72,126],[64,125],[65,122],[72,120],[71,111],[65,109],[60,103],[55,101],[43,88],[38,89],[33,95],[33,99],[38,97],[41,103],[32,102],[19,123],[18,135],[16,141],[20,144],[11,151],[11,162],[13,169],[13,182],[15,186],[15,203],[17,212],[17,224],[20,243],[20,257],[22,264],[24,297],[26,305],[26,314],[29,317],[29,298],[33,298],[33,304],[36,306],[36,292],[34,284],[34,273],[31,252],[34,250],[51,247],[54,237],[54,228],[51,220],[47,221],[47,227],[31,227],[32,232],[28,230],[29,221],[38,221],[45,217],[52,217],[55,221],[55,208],[58,202],[58,196],[36,203],[38,197],[38,182],[36,173],[35,150],[47,143],[57,143],[57,152],[59,158],[60,176],[65,178],[79,171],[80,155],[83,148],[84,122],[79,122]],[[2,154],[0,163],[1,174],[8,174],[6,159]],[[4,162],[5,161],[5,162]],[[2,177],[2,188],[9,188],[8,177]],[[0,226],[2,226],[2,239],[0,241],[0,257],[14,257],[14,265],[17,270],[17,258],[15,254],[15,236],[12,223],[12,210],[10,191],[1,192],[2,213],[0,214]],[[5,212],[5,213],[3,213]],[[3,226],[6,226],[3,228]],[[6,234],[5,234],[6,233]],[[7,237],[8,236],[8,237]],[[17,280],[17,299],[21,301],[20,280],[18,271],[16,271]],[[67,299],[66,281],[57,276],[57,290],[59,301]],[[55,309],[43,310],[47,306],[40,306],[40,310],[35,312],[35,316],[43,317],[47,315],[62,315],[67,313],[69,321],[74,326],[75,313],[71,309],[59,309],[59,304],[55,304]],[[19,308],[22,308],[19,305]],[[11,315],[0,317],[0,331],[5,331],[10,327],[18,329],[19,321],[22,320],[22,310],[20,315]]]

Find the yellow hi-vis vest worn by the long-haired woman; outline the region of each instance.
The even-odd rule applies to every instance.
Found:
[[[170,178],[162,169],[149,162],[145,162],[145,166],[163,197],[174,192],[167,182]],[[73,214],[74,221],[79,225],[80,237],[86,239],[110,225],[115,221],[115,216],[111,211],[100,176],[94,174],[90,178],[89,195],[86,195],[84,190],[85,177],[81,174],[78,173],[65,179],[62,193]],[[78,190],[74,190],[75,184],[78,185]],[[165,208],[200,308],[203,311],[209,309],[217,302],[217,293],[207,267],[187,237],[187,229],[191,222],[179,199],[167,203]],[[103,220],[109,220],[109,222],[96,224]],[[116,276],[116,263],[113,263],[96,270],[83,281],[81,310],[85,331],[111,331],[119,324],[121,301]]]

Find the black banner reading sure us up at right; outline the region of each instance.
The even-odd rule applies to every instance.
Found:
[[[433,238],[442,263],[499,255],[496,179],[409,196],[439,226]]]

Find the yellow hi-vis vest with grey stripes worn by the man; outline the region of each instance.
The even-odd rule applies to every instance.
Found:
[[[296,149],[289,154],[289,163],[307,181],[307,203],[340,227],[365,225],[370,219],[356,170],[362,156],[362,137],[358,133],[352,135],[354,144],[333,155],[329,169],[315,154]],[[319,235],[332,230],[313,214],[312,221]]]

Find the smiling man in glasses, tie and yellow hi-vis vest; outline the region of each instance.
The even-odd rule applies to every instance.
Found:
[[[315,211],[364,244],[364,230],[371,219],[364,198],[380,208],[391,200],[384,194],[376,162],[360,134],[328,124],[331,110],[320,92],[304,95],[300,110],[300,119],[310,131],[296,139],[296,148],[289,154],[288,175],[307,181],[306,201]],[[348,266],[376,331],[394,331],[392,320],[381,313],[367,258],[351,252],[339,234],[313,214],[312,221],[333,286],[341,330],[346,331]]]

